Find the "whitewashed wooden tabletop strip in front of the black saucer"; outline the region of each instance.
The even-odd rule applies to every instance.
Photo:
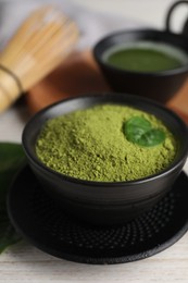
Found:
[[[140,261],[89,266],[46,255],[26,242],[0,256],[1,283],[187,283],[188,234],[166,250]]]

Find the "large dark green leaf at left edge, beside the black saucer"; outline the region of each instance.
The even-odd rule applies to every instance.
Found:
[[[7,194],[15,173],[24,163],[21,145],[0,143],[0,254],[21,239],[8,217]]]

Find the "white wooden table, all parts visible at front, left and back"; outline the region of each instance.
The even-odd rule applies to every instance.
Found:
[[[170,0],[75,0],[101,9],[123,13],[126,16],[136,14],[138,20],[148,20],[156,25],[164,15],[164,8]],[[95,3],[91,3],[95,2]],[[114,8],[114,2],[122,7]],[[152,2],[152,4],[151,4]],[[152,15],[146,5],[152,7]],[[136,10],[134,10],[134,7]],[[148,15],[148,17],[147,17]],[[158,20],[158,17],[160,20]],[[162,24],[161,24],[162,25]],[[0,114],[0,142],[21,142],[22,130],[29,115],[25,107],[13,107]],[[188,163],[185,165],[188,173]],[[188,200],[187,200],[188,201]],[[57,259],[29,243],[23,241],[0,255],[0,282],[2,283],[48,283],[48,282],[121,282],[121,283],[187,283],[188,282],[188,233],[166,250],[131,263],[113,266],[90,266]]]

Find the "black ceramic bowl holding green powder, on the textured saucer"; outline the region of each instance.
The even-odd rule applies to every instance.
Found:
[[[101,103],[130,106],[161,119],[176,136],[179,148],[174,162],[162,172],[129,182],[91,182],[57,173],[40,162],[35,145],[47,120]],[[184,122],[172,111],[141,97],[106,94],[67,99],[38,112],[26,124],[23,147],[28,163],[43,189],[65,211],[92,224],[120,224],[150,209],[170,189],[181,171],[188,153],[188,135]]]

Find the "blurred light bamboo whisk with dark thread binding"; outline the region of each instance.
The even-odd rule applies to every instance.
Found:
[[[77,26],[58,9],[33,12],[0,54],[0,112],[55,69],[77,39]]]

